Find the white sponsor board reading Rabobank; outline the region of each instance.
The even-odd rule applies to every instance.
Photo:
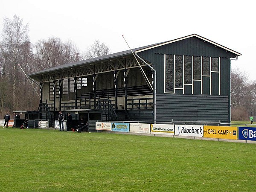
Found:
[[[203,125],[175,125],[175,135],[203,137]]]

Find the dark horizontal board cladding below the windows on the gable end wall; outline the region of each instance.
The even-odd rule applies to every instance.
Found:
[[[227,96],[157,94],[157,122],[184,121],[228,122]]]

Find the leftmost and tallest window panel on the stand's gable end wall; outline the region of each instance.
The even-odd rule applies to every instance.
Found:
[[[165,91],[173,93],[174,55],[166,55],[166,87]]]

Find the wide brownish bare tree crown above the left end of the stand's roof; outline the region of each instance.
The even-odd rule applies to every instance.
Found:
[[[71,41],[63,43],[59,38],[39,40],[35,44],[35,61],[38,70],[48,69],[81,60],[79,49]]]

